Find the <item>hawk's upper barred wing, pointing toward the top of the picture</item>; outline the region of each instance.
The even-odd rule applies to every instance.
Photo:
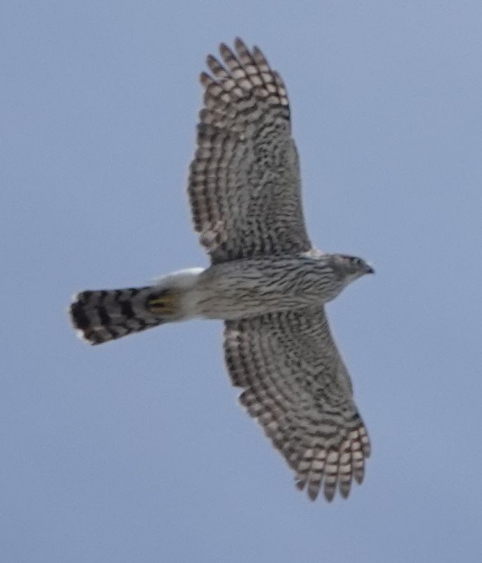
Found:
[[[204,108],[189,198],[214,263],[310,249],[284,83],[254,47],[226,45],[207,57]]]

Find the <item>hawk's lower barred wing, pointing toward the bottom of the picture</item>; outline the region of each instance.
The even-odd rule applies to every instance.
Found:
[[[224,349],[240,402],[293,467],[298,487],[326,499],[363,480],[370,442],[323,309],[226,322]]]

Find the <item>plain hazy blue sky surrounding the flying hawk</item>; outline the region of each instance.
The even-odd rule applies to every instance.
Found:
[[[377,269],[328,306],[373,444],[347,501],[295,489],[221,323],[91,348],[66,314],[207,265],[197,76],[236,35],[288,85],[312,240]],[[4,0],[0,59],[1,560],[480,561],[482,3]]]

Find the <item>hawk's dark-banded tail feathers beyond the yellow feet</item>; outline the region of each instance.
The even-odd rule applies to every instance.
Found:
[[[70,307],[73,326],[89,344],[102,344],[157,326],[168,319],[147,308],[152,293],[152,286],[82,291]]]

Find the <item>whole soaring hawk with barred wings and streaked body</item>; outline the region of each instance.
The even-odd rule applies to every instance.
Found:
[[[209,55],[189,200],[209,268],[140,288],[82,291],[71,320],[90,344],[193,317],[224,321],[240,402],[293,469],[328,501],[363,481],[370,441],[324,304],[372,267],[309,241],[286,87],[238,38]]]

